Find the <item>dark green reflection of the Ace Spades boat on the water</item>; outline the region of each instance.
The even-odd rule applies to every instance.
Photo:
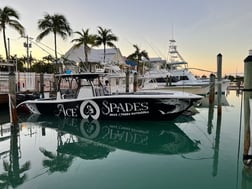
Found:
[[[147,154],[184,154],[199,150],[198,143],[174,122],[89,121],[34,115],[27,121],[43,128],[55,128],[61,136],[75,136],[74,140],[58,141],[57,150],[83,159],[107,157],[116,149]]]

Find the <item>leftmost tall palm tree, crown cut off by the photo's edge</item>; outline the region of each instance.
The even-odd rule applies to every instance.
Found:
[[[24,27],[18,22],[19,14],[16,10],[10,7],[0,8],[0,31],[3,31],[4,48],[6,54],[6,60],[9,60],[9,53],[7,50],[6,42],[6,26],[14,28],[20,35],[24,34]]]

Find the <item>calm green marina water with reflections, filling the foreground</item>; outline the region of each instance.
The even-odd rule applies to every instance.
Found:
[[[162,122],[20,116],[19,133],[1,134],[0,188],[4,181],[20,189],[251,188],[252,170],[242,163],[241,95],[231,91],[227,101],[221,116],[216,107],[200,107]]]

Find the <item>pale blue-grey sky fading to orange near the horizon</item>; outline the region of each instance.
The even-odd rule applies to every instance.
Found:
[[[243,73],[252,49],[251,0],[0,0],[0,8],[5,6],[19,13],[26,36],[34,42],[41,32],[38,20],[57,13],[66,17],[73,31],[97,34],[98,26],[111,29],[123,56],[133,53],[136,44],[149,57],[167,59],[169,40],[175,39],[189,68],[216,71],[221,53],[222,75]],[[9,27],[6,33],[10,54],[26,56],[26,39]],[[0,35],[0,54],[5,57],[1,31]],[[58,37],[60,54],[73,46],[74,38],[78,36]],[[52,34],[38,45],[30,48],[33,57],[54,55]]]

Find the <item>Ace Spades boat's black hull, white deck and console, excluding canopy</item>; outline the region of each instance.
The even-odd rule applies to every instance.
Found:
[[[97,95],[94,85],[90,86],[81,87],[77,98],[28,100],[17,108],[25,106],[33,114],[94,120],[174,119],[202,98],[191,93],[156,90]]]

